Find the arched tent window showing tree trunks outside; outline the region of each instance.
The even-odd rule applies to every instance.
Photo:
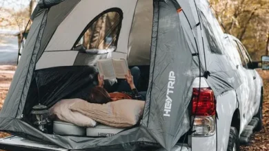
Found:
[[[117,39],[121,28],[121,14],[119,12],[106,12],[94,19],[86,27],[82,37],[75,47],[83,46],[85,49],[109,49],[117,47]]]

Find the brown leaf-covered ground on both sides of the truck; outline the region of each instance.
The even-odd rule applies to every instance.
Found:
[[[8,88],[12,80],[15,66],[0,65],[0,108],[8,93]],[[241,150],[269,150],[269,71],[259,71],[263,78],[264,95],[263,95],[263,130],[256,132],[252,136],[249,146],[241,146]],[[8,134],[0,132],[0,138]]]

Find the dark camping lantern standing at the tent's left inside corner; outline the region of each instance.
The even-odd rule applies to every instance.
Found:
[[[42,132],[47,132],[46,124],[48,124],[48,109],[47,106],[43,106],[41,104],[34,106],[32,108],[32,115],[34,115],[35,121],[34,125],[39,127],[39,130]]]

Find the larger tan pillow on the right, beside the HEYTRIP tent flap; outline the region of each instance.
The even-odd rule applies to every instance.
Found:
[[[72,111],[116,128],[134,126],[143,114],[145,102],[139,100],[119,100],[108,104],[91,104],[86,101],[70,106]]]

